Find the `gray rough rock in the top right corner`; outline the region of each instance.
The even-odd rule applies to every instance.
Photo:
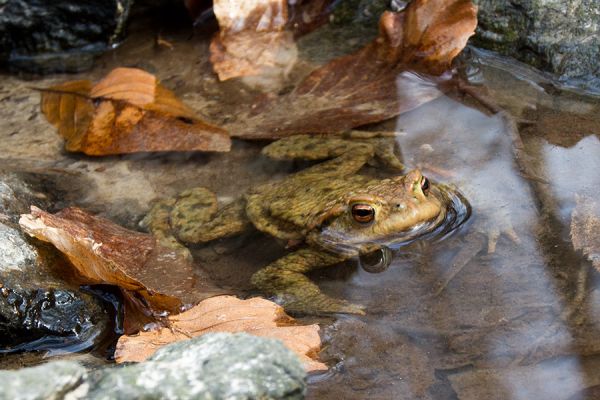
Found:
[[[475,0],[475,44],[512,56],[559,80],[600,89],[600,2]]]

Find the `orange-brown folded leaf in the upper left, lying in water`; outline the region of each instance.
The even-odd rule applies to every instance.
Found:
[[[96,85],[67,82],[41,89],[42,113],[66,140],[88,155],[147,151],[229,151],[227,132],[198,119],[156,77],[116,68]]]

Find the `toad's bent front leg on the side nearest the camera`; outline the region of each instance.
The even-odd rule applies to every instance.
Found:
[[[282,257],[252,276],[252,284],[276,296],[286,311],[300,314],[363,314],[364,307],[331,298],[311,282],[306,273],[344,261],[343,256],[305,248]]]

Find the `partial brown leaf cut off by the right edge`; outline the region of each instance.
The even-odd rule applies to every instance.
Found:
[[[576,206],[571,217],[571,240],[576,250],[600,271],[600,203],[586,195],[575,195]]]

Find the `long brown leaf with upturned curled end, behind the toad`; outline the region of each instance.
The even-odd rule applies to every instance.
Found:
[[[232,135],[343,132],[439,97],[451,77],[445,72],[474,33],[477,8],[471,0],[414,0],[401,12],[385,12],[379,25],[373,43],[313,71],[292,92],[240,112]]]

